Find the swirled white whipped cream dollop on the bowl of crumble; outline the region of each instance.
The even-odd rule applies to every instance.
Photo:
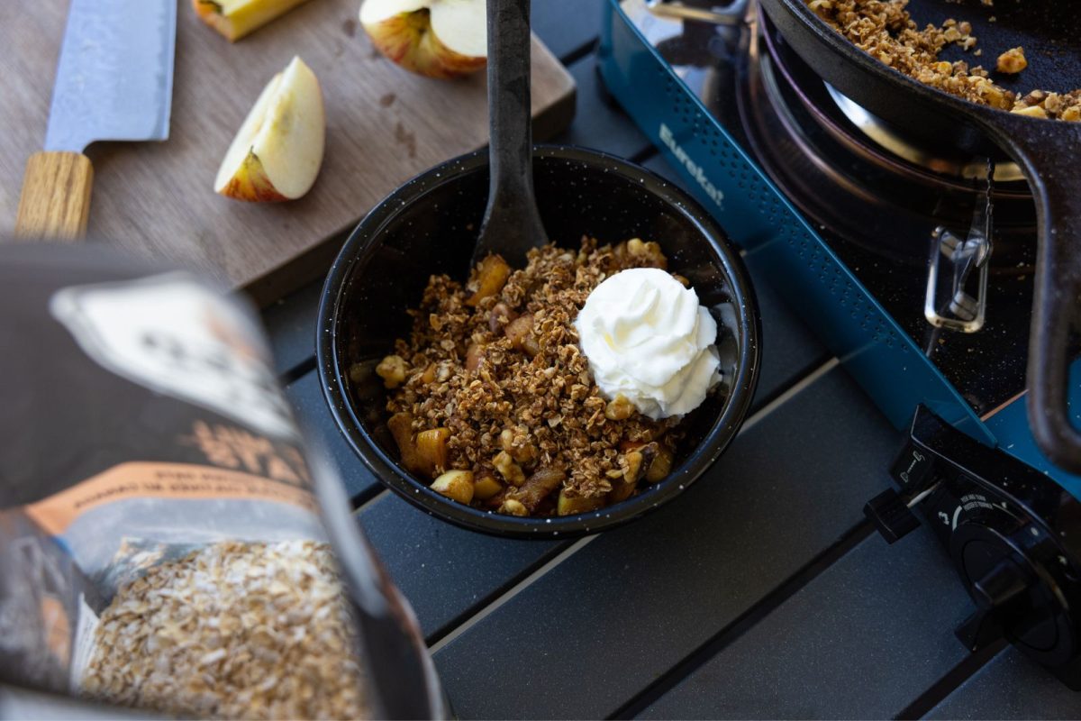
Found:
[[[574,328],[601,392],[654,420],[693,411],[721,378],[717,322],[694,290],[658,268],[606,278]]]

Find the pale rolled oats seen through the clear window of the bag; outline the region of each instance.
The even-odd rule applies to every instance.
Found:
[[[82,687],[179,716],[369,718],[353,649],[326,544],[226,542],[117,591]]]

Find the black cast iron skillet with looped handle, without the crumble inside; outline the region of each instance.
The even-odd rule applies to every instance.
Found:
[[[1081,321],[1081,122],[1041,120],[975,105],[883,65],[823,23],[803,0],[761,0],[784,39],[841,93],[871,112],[933,143],[974,155],[999,146],[1032,188],[1039,223],[1036,297],[1028,359],[1028,415],[1052,462],[1081,472],[1081,432],[1067,405],[1070,336]],[[1081,88],[1081,12],[1062,0],[910,0],[920,25],[948,17],[972,23],[983,55],[960,49],[945,59],[992,69],[999,53],[1022,45],[1028,67],[1016,77],[992,74],[1022,94]],[[1056,12],[1057,11],[1057,12]],[[991,17],[996,22],[990,22]]]

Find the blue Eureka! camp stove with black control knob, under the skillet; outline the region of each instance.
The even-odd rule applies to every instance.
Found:
[[[606,91],[907,431],[897,490],[865,510],[891,542],[922,512],[976,602],[958,637],[1009,639],[1081,686],[1081,477],[1038,451],[1025,410],[1027,183],[852,103],[753,0],[718,5],[609,0]]]

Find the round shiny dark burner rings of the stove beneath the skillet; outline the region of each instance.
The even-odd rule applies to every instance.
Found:
[[[927,246],[944,226],[969,236],[975,210],[990,196],[995,206],[998,272],[1029,272],[1036,214],[1024,182],[1005,182],[1007,166],[969,158],[961,164],[942,151],[893,134],[913,162],[876,143],[842,111],[836,93],[759,16],[746,80],[740,83],[742,123],[756,156],[789,199],[828,232],[895,263],[927,267]],[[848,104],[849,114],[858,115]],[[869,118],[869,114],[864,114]],[[876,124],[884,130],[884,124]],[[947,172],[956,171],[956,172]],[[925,279],[926,276],[923,276]]]

